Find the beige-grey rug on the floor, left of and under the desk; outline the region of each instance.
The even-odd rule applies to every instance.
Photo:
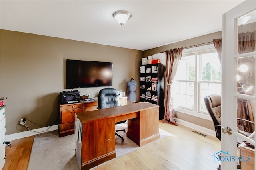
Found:
[[[127,131],[127,125],[116,125],[116,129],[126,129]],[[124,137],[124,142],[116,136],[117,158],[139,149],[138,145],[127,138],[125,133],[118,133]],[[74,134],[60,138],[56,130],[35,135],[28,170],[60,169],[79,169],[75,156]]]

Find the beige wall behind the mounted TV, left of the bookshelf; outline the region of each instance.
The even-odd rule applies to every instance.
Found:
[[[26,131],[20,119],[43,125],[58,124],[58,94],[65,89],[65,60],[113,62],[113,88],[126,90],[130,78],[138,81],[142,51],[1,30],[0,91],[8,97],[6,135]],[[80,88],[80,94],[98,95],[102,88]],[[69,89],[70,90],[70,89]],[[139,89],[137,89],[139,96]],[[138,99],[138,97],[137,97]],[[30,129],[40,126],[29,121]]]

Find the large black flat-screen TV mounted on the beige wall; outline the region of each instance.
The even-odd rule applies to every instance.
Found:
[[[112,86],[113,63],[66,60],[66,89]]]

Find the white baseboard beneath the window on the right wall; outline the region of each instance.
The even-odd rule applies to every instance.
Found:
[[[195,129],[196,131],[199,131],[199,132],[202,132],[203,134],[205,135],[210,135],[212,137],[216,137],[216,133],[214,130],[211,130],[211,129],[208,129],[208,128],[205,128],[205,127],[202,127],[202,126],[199,126],[199,125],[196,125],[194,123],[190,123],[188,121],[184,121],[182,119],[177,119],[175,118],[175,120],[177,121],[177,123],[181,124],[181,125],[184,125],[186,127],[189,127],[191,129]]]

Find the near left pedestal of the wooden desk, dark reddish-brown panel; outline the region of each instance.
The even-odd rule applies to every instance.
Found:
[[[90,169],[115,157],[115,119],[82,124],[81,169]]]

